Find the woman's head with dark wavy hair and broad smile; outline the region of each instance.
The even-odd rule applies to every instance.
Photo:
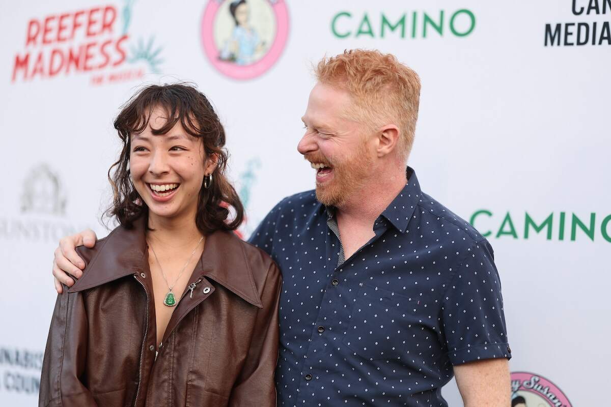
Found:
[[[107,215],[117,217],[122,225],[129,227],[152,205],[162,209],[156,203],[169,201],[155,200],[165,196],[149,192],[153,188],[160,189],[150,187],[150,184],[175,183],[177,189],[183,189],[182,195],[180,200],[172,200],[171,205],[163,206],[164,211],[180,209],[178,201],[186,204],[185,199],[189,196],[191,204],[197,204],[196,223],[203,234],[216,229],[234,230],[240,226],[244,208],[235,189],[225,178],[225,131],[202,93],[180,84],[144,88],[119,113],[114,126],[123,142],[123,151],[108,173],[114,190],[114,203]],[[167,167],[172,165],[177,166],[175,177],[180,177],[185,171],[196,171],[196,174],[189,175],[184,180],[186,185],[181,187],[177,179],[170,179],[166,174]],[[200,170],[204,173],[198,175]],[[209,179],[210,176],[214,182],[210,182],[208,188],[201,187],[203,178]],[[169,189],[164,187],[164,190]],[[223,203],[235,210],[231,222],[227,222],[229,209]]]

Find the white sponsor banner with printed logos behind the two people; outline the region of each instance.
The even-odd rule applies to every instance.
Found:
[[[108,233],[112,120],[135,90],[189,81],[213,101],[247,236],[313,187],[296,150],[312,65],[376,48],[422,79],[410,165],[423,190],[494,247],[514,404],[609,405],[610,21],[610,0],[5,4],[0,404],[37,404],[53,249]],[[455,384],[444,395],[461,405]]]

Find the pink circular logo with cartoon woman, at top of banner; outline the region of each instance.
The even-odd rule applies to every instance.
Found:
[[[203,51],[218,71],[252,79],[276,63],[288,38],[284,0],[210,0],[203,11]]]

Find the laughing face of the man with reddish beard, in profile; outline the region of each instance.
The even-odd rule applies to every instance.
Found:
[[[346,118],[352,104],[347,91],[318,83],[302,117],[297,149],[315,168],[316,198],[327,206],[342,207],[375,176],[368,129]]]

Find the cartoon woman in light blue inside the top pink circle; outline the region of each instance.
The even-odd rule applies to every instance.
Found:
[[[249,65],[255,62],[255,56],[265,48],[257,31],[249,23],[250,10],[246,0],[233,0],[229,12],[235,21],[232,36],[225,43],[220,58],[235,62],[238,65]]]

